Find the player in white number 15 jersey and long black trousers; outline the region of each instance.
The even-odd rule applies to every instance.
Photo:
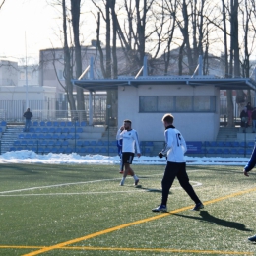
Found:
[[[152,211],[167,212],[169,190],[175,177],[178,178],[181,187],[195,202],[196,205],[193,210],[198,211],[204,208],[204,205],[199,200],[193,187],[189,183],[186,171],[186,160],[184,159],[184,154],[187,151],[186,142],[180,131],[173,126],[173,120],[174,118],[171,114],[165,114],[162,117],[162,123],[165,127],[165,147],[160,151],[159,157],[162,158],[163,156],[166,156],[167,164],[161,180],[161,204],[159,207],[152,209]]]

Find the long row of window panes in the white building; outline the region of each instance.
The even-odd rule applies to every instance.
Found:
[[[215,112],[216,96],[140,96],[139,110],[147,112]]]

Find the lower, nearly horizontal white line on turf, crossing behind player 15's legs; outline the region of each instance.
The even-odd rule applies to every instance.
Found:
[[[190,183],[195,183],[193,187],[202,186],[202,183],[197,181],[190,181]],[[171,190],[181,189],[182,187],[172,187]],[[146,188],[135,188],[133,190],[124,191],[96,191],[96,192],[70,192],[70,193],[43,193],[43,194],[19,194],[19,195],[0,195],[0,197],[27,197],[27,196],[72,196],[72,195],[98,195],[98,194],[119,194],[119,193],[141,193],[141,192],[157,192],[160,189],[146,189]]]

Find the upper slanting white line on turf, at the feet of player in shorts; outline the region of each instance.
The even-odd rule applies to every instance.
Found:
[[[201,169],[190,170],[189,172],[196,172],[196,171],[201,171]],[[153,174],[153,175],[142,175],[142,179],[144,177],[153,177],[153,176],[162,176],[162,175],[163,175],[163,173]],[[127,178],[131,178],[131,177],[127,176]],[[90,183],[114,181],[114,180],[120,180],[120,179],[121,179],[121,176],[120,176],[120,178],[112,178],[112,179],[98,179],[98,180],[81,181],[81,182],[73,182],[73,183],[55,184],[55,185],[48,185],[48,186],[41,186],[41,187],[21,188],[21,189],[15,189],[15,190],[0,191],[0,196],[1,196],[1,194],[30,191],[30,190],[35,190],[35,189],[63,187],[63,186],[80,185],[80,184],[90,184]]]

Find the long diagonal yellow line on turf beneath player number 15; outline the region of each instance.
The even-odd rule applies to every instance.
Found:
[[[247,189],[247,190],[244,190],[244,191],[235,192],[235,193],[232,193],[230,195],[226,195],[226,196],[219,197],[219,198],[216,198],[216,199],[213,199],[213,200],[209,200],[207,202],[204,202],[204,205],[209,205],[209,204],[213,204],[213,203],[216,203],[216,202],[220,202],[224,199],[240,196],[240,195],[252,192],[252,191],[256,191],[256,188],[251,188],[251,189]],[[183,207],[183,208],[176,209],[176,210],[168,212],[168,213],[156,215],[156,216],[153,216],[153,217],[150,217],[150,218],[142,219],[142,220],[132,222],[132,223],[128,223],[128,224],[120,224],[120,225],[117,225],[117,226],[114,226],[114,227],[111,227],[111,228],[107,228],[105,230],[101,230],[101,231],[98,231],[98,232],[95,232],[95,233],[92,233],[92,234],[89,234],[89,235],[85,235],[85,236],[75,238],[75,239],[72,239],[72,240],[69,240],[69,241],[66,241],[66,242],[62,242],[62,243],[58,243],[58,244],[55,244],[55,245],[52,245],[52,246],[48,246],[48,247],[39,249],[37,251],[33,251],[31,253],[24,254],[24,256],[34,256],[34,255],[38,255],[38,254],[48,252],[48,251],[51,251],[51,250],[54,250],[54,249],[60,249],[61,247],[64,247],[64,246],[67,246],[67,245],[70,245],[70,244],[73,244],[73,243],[81,242],[81,241],[84,241],[84,240],[87,240],[87,239],[91,239],[91,238],[94,238],[96,236],[106,234],[106,233],[110,233],[110,232],[113,232],[113,231],[116,231],[116,230],[119,230],[119,229],[122,229],[122,228],[125,228],[125,227],[128,227],[128,226],[132,226],[132,225],[135,225],[135,224],[144,224],[144,223],[147,223],[147,222],[158,220],[158,219],[163,218],[163,217],[168,216],[168,215],[177,214],[177,213],[189,210],[189,209],[191,209],[191,207],[193,207],[193,206]]]

